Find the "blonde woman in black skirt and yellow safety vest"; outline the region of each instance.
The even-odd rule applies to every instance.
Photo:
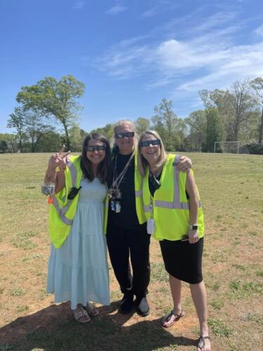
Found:
[[[172,326],[184,312],[182,281],[190,284],[200,324],[198,351],[210,350],[205,285],[202,277],[203,211],[193,172],[178,171],[180,155],[166,154],[156,131],[140,136],[137,163],[147,231],[160,242],[173,296],[173,310],[163,317],[163,327]]]

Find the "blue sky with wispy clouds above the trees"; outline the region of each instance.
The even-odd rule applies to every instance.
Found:
[[[263,77],[262,0],[0,0],[0,132],[20,88],[73,74],[86,84],[81,128],[178,117],[202,88]]]

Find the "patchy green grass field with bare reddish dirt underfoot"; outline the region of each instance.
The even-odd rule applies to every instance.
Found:
[[[188,154],[205,213],[203,275],[213,350],[263,350],[263,157]],[[189,287],[186,315],[162,329],[172,307],[159,244],[151,242],[151,314],[117,312],[121,298],[110,267],[112,305],[88,324],[69,303],[46,294],[48,204],[40,193],[48,154],[0,154],[0,351],[196,350],[198,319]]]

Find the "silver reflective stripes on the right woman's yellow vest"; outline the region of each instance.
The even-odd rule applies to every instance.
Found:
[[[180,202],[180,185],[179,185],[179,170],[176,168],[177,164],[179,164],[179,159],[181,155],[177,155],[175,157],[175,161],[173,162],[173,202],[170,201],[154,201],[154,206],[163,207],[163,208],[175,208],[182,210],[189,210],[188,202]],[[201,201],[198,201],[198,207],[201,207]],[[151,205],[144,206],[144,212],[150,212]]]

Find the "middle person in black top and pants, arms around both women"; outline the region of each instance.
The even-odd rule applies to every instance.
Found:
[[[149,314],[146,296],[150,279],[150,235],[147,234],[142,207],[142,178],[135,162],[137,137],[133,122],[119,121],[114,127],[114,137],[114,177],[109,190],[107,246],[123,293],[119,311],[125,314],[133,310],[135,296],[137,312],[145,317]],[[189,167],[191,160],[182,157],[178,168]]]

